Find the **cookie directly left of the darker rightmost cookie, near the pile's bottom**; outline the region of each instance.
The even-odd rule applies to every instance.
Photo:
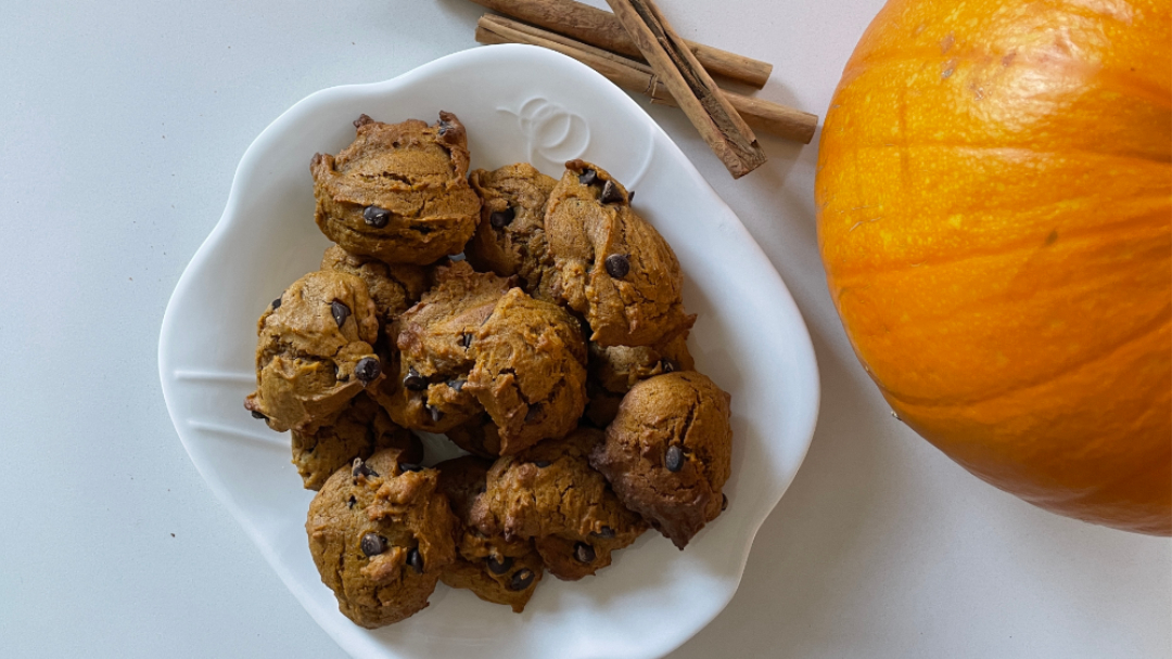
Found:
[[[600,431],[579,428],[499,458],[472,507],[473,523],[486,534],[534,538],[546,569],[560,579],[579,579],[609,565],[611,554],[647,526],[591,468],[590,452],[601,440]]]

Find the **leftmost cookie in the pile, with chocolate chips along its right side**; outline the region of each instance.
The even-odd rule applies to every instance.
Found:
[[[293,282],[257,334],[257,391],[244,406],[274,431],[312,433],[383,379],[375,306],[354,275],[316,272]]]

